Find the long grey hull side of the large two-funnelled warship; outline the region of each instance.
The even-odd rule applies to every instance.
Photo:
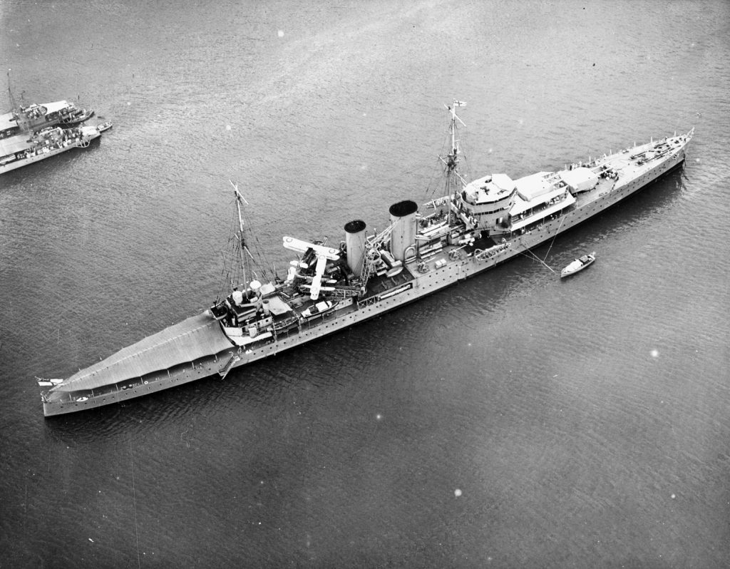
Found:
[[[263,345],[251,345],[239,348],[231,343],[230,347],[216,350],[215,353],[203,356],[189,362],[182,362],[174,367],[148,373],[132,378],[132,384],[122,386],[105,386],[96,393],[71,392],[58,400],[47,400],[44,395],[43,410],[45,416],[63,413],[72,413],[78,410],[110,405],[115,402],[141,397],[142,395],[159,392],[169,387],[189,383],[209,375],[225,375],[232,369],[242,367],[258,360],[279,354],[280,352],[296,348],[320,337],[334,334],[347,329],[354,324],[381,316],[410,302],[426,297],[445,289],[460,280],[465,280],[481,272],[490,270],[498,264],[518,256],[525,251],[537,247],[556,235],[564,233],[573,227],[583,224],[588,219],[617,205],[624,199],[645,188],[658,178],[680,168],[685,161],[685,146],[682,146],[672,156],[658,162],[656,166],[644,169],[639,175],[629,180],[616,183],[605,191],[601,186],[593,191],[579,196],[575,206],[545,221],[540,226],[531,228],[520,235],[511,235],[509,242],[494,247],[489,256],[477,258],[476,255],[464,256],[461,259],[451,259],[445,265],[429,272],[420,273],[416,270],[415,262],[407,264],[404,276],[396,286],[384,289],[382,292],[372,292],[369,297],[359,302],[347,304],[341,310],[335,310],[312,321],[303,322],[298,328],[278,335],[274,340]],[[213,320],[213,317],[210,316]],[[56,389],[56,388],[54,388]],[[79,397],[80,395],[80,397]]]

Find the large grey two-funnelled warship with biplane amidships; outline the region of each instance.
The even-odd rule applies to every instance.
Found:
[[[247,202],[234,188],[237,261],[210,308],[123,348],[66,379],[37,378],[45,416],[96,408],[168,389],[334,334],[486,271],[582,224],[681,167],[694,129],[516,180],[504,173],[466,181],[458,164],[454,100],[449,151],[439,156],[445,191],[419,206],[389,208],[382,232],[361,219],[344,240],[283,237],[296,253],[286,278],[251,267]],[[463,124],[463,123],[462,123]]]

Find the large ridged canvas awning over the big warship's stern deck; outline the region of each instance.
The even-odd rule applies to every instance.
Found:
[[[208,313],[191,316],[75,373],[52,392],[96,389],[166,370],[231,348],[220,324]]]

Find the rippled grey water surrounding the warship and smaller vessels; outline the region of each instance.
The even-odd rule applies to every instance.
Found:
[[[9,0],[0,29],[16,96],[115,123],[0,179],[0,567],[729,564],[729,4]],[[35,375],[210,305],[228,180],[283,267],[283,234],[439,195],[454,97],[467,177],[696,134],[683,171],[535,251],[596,251],[569,281],[518,259],[224,381],[43,418]]]

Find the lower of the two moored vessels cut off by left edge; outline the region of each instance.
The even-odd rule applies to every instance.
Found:
[[[86,148],[112,123],[61,129],[49,126],[30,138],[23,135],[0,140],[0,174],[55,156],[72,148]]]

